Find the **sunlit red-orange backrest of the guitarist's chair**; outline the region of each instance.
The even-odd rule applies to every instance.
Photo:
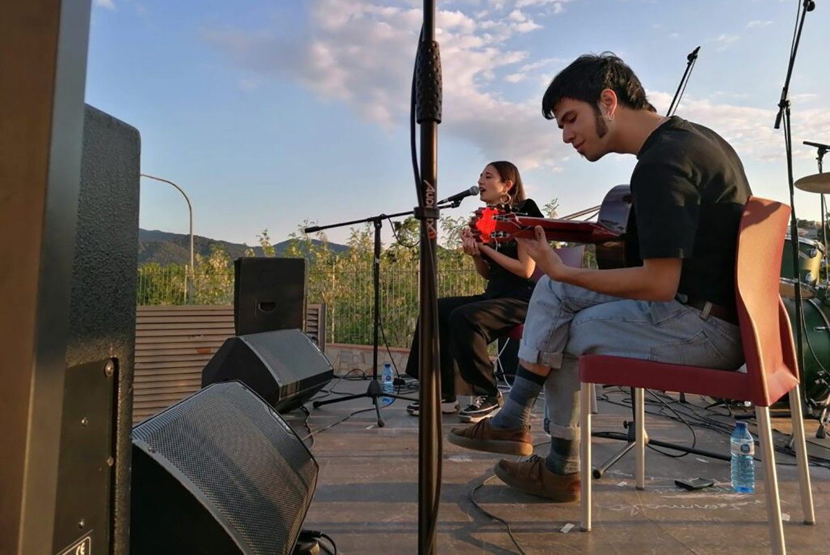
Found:
[[[735,295],[750,382],[750,401],[769,407],[798,385],[793,333],[779,296],[790,208],[749,197],[740,219]]]

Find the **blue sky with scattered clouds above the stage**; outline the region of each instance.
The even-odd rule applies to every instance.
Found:
[[[549,80],[584,52],[614,51],[665,113],[701,46],[677,114],[730,140],[755,194],[789,202],[773,123],[801,1],[437,0],[439,195],[510,159],[540,205],[599,204],[635,159],[588,163],[562,144],[540,111]],[[796,178],[818,171],[802,141],[830,144],[830,4],[817,4],[790,87]],[[408,94],[421,22],[421,0],[94,0],[86,101],[139,129],[142,172],[188,192],[195,233],[254,244],[267,228],[281,241],[305,221],[415,205]],[[796,208],[820,217],[818,195],[797,193]],[[146,229],[188,231],[164,183],[142,179],[140,210]]]

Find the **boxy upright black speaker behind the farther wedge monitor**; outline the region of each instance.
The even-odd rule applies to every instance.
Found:
[[[233,263],[233,324],[237,335],[303,329],[305,260],[242,257]]]

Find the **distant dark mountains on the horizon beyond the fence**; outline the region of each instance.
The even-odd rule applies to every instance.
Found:
[[[314,243],[320,245],[320,241],[314,240]],[[276,256],[283,256],[286,253],[286,248],[289,241],[282,241],[274,245]],[[261,246],[247,246],[244,243],[231,243],[228,241],[218,241],[208,237],[193,236],[193,254],[208,256],[210,255],[211,246],[221,246],[231,260],[236,260],[240,256],[245,256],[245,251],[252,248],[256,256],[262,256]],[[349,247],[339,245],[338,243],[329,243],[329,247],[334,252],[348,251]],[[155,262],[159,265],[170,264],[189,264],[190,262],[190,236],[182,233],[169,233],[168,231],[146,230],[139,228],[139,265]]]

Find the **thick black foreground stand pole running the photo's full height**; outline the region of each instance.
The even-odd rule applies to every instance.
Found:
[[[413,169],[421,221],[421,310],[418,320],[418,518],[417,548],[421,555],[437,552],[436,528],[441,501],[441,382],[438,381],[438,310],[436,221],[437,143],[441,123],[441,53],[435,40],[435,0],[423,0],[423,25],[413,75],[414,119],[410,119]],[[414,155],[414,122],[421,126],[420,171]]]

